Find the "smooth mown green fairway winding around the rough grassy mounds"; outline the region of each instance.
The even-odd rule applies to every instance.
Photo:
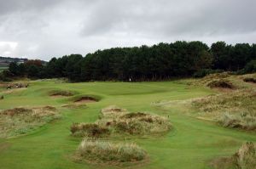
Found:
[[[50,98],[49,91],[68,90],[78,95],[96,96],[99,102],[87,104],[86,108],[66,109],[61,106],[72,104],[73,97]],[[115,104],[129,111],[150,111],[169,115],[174,129],[162,137],[132,138],[148,152],[148,161],[132,168],[209,168],[211,159],[232,155],[245,141],[256,142],[255,133],[240,132],[218,127],[183,114],[183,106],[162,109],[152,103],[160,100],[183,100],[202,97],[213,93],[199,87],[188,87],[180,82],[84,82],[55,83],[54,81],[31,82],[24,90],[15,90],[0,100],[0,110],[18,106],[55,106],[62,118],[37,131],[18,138],[0,139],[0,168],[2,169],[76,169],[114,168],[75,163],[70,156],[77,149],[81,138],[70,136],[73,122],[96,121],[100,110]],[[122,138],[115,138],[122,139]],[[125,138],[123,138],[125,139]]]

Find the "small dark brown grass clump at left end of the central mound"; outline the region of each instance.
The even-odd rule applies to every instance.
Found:
[[[91,123],[73,123],[70,131],[73,136],[89,138],[101,138],[110,134],[107,127],[100,127],[97,124]]]

